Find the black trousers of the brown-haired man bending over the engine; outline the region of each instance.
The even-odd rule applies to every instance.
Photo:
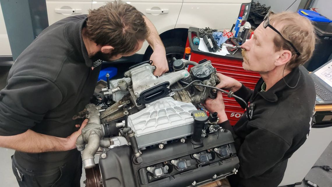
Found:
[[[48,170],[31,171],[21,167],[12,156],[14,175],[20,187],[80,187],[82,158]]]

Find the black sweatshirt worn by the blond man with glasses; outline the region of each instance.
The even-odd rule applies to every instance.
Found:
[[[298,79],[299,78],[299,79]],[[315,105],[315,87],[308,72],[295,68],[267,92],[260,79],[254,91],[242,87],[234,94],[255,104],[252,120],[242,115],[233,129],[240,160],[239,173],[230,177],[232,187],[277,187],[284,177],[288,158],[306,140]],[[243,107],[243,106],[242,106]]]

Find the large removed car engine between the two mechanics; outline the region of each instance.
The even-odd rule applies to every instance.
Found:
[[[73,117],[89,119],[76,141],[87,187],[201,186],[237,172],[231,132],[201,104],[216,94],[206,87],[218,83],[216,69],[174,60],[160,77],[151,62],[129,68]]]

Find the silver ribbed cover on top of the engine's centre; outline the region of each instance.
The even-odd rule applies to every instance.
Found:
[[[191,112],[197,109],[192,103],[164,97],[145,106],[128,116],[128,126],[135,132],[138,148],[193,134]]]

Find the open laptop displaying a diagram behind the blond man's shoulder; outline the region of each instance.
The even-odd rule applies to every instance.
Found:
[[[331,104],[332,60],[317,68],[310,75],[315,83],[316,104]]]

